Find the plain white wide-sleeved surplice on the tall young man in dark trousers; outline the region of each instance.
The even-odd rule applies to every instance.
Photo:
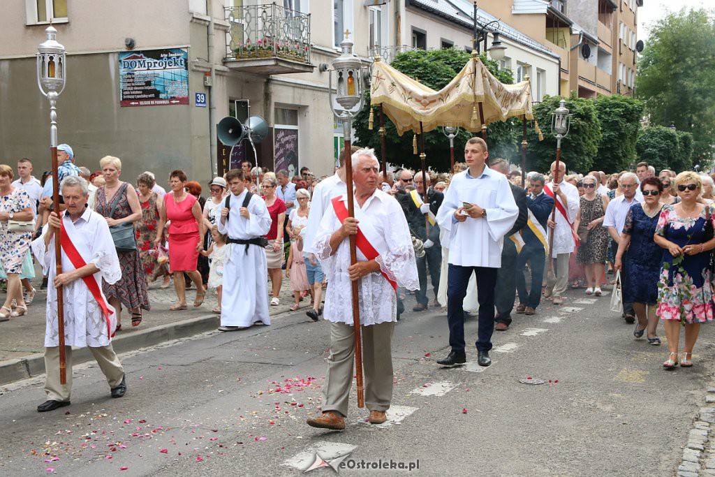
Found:
[[[458,222],[454,212],[463,202],[485,209],[486,218],[467,217],[464,222]],[[442,242],[448,242],[449,263],[463,267],[501,267],[504,235],[511,230],[518,215],[519,209],[505,175],[486,166],[479,177],[471,177],[469,169],[455,174],[437,212],[437,223],[449,230]]]

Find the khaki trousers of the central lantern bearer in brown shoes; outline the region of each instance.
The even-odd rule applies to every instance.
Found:
[[[365,406],[370,410],[388,410],[393,399],[392,338],[395,322],[363,326],[363,370],[365,371]],[[355,363],[352,326],[330,322],[330,356],[327,380],[322,387],[322,411],[337,410],[347,415]]]

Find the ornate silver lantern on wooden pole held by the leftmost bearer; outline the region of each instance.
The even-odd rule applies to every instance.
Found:
[[[64,91],[66,56],[64,46],[56,40],[54,26],[45,29],[46,39],[37,47],[37,86],[49,101],[49,137],[52,157],[52,198],[54,210],[59,211],[59,183],[57,181],[57,98]],[[55,275],[62,273],[59,230],[54,231]],[[57,287],[57,324],[59,331],[59,381],[66,384],[66,357],[64,353],[64,296],[62,287]]]

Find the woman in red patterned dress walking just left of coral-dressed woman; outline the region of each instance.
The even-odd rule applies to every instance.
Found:
[[[137,249],[139,258],[142,260],[144,274],[147,275],[147,282],[153,282],[164,275],[164,285],[168,285],[169,272],[166,264],[159,265],[157,253],[150,253],[154,250],[154,240],[157,238],[157,225],[159,224],[159,210],[164,207],[162,197],[156,192],[152,192],[154,180],[149,174],[140,174],[137,177],[137,193],[139,194],[139,206],[142,207],[142,220],[137,222]]]

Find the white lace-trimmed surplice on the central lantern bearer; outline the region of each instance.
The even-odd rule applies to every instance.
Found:
[[[347,197],[342,195],[341,201],[347,202]],[[355,201],[355,218],[360,222],[358,227],[365,227],[365,235],[378,250],[379,255],[375,260],[380,264],[380,270],[395,280],[398,286],[418,290],[420,280],[415,249],[405,214],[397,199],[381,190],[375,190],[363,207]],[[320,221],[312,248],[330,283],[325,294],[325,319],[352,325],[352,282],[347,274],[350,267],[349,240],[346,237],[340,242],[333,255],[330,248],[330,236],[340,226],[340,220],[330,205]],[[383,240],[371,240],[369,237]],[[358,261],[365,260],[365,255],[358,248]],[[362,325],[396,321],[397,294],[380,272],[365,275],[359,285],[358,303]]]

